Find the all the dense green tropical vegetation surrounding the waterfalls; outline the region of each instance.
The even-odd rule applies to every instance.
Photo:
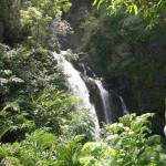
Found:
[[[166,164],[164,137],[155,135],[162,135],[165,124],[165,22],[147,29],[149,21],[137,15],[146,8],[144,1],[132,1],[132,6],[126,1],[94,4],[97,2],[100,11],[92,8],[93,1],[0,1],[0,165]],[[107,15],[102,2],[116,15]],[[152,11],[152,6],[157,6],[157,11]],[[148,17],[149,10],[165,15],[164,1],[152,1],[152,6]],[[134,10],[136,15],[124,10]],[[74,22],[73,11],[80,12]],[[75,111],[75,98],[51,52],[59,52],[64,39],[73,37],[63,18],[74,30],[80,25],[80,50],[90,54],[100,76],[131,84],[127,97],[139,116],[133,113],[104,125],[100,139],[89,111]]]

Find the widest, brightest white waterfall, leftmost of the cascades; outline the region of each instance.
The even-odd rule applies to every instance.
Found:
[[[96,138],[100,138],[100,126],[98,120],[95,113],[94,105],[90,103],[90,94],[89,90],[82,80],[80,73],[73,68],[73,65],[64,59],[64,54],[66,51],[61,51],[60,54],[53,53],[54,58],[58,60],[58,63],[63,69],[63,74],[66,75],[66,81],[71,92],[77,100],[81,102],[76,105],[79,111],[81,110],[90,110],[93,122],[95,123],[95,135]]]

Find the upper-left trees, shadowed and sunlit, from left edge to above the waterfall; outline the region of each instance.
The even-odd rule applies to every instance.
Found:
[[[61,20],[62,11],[69,11],[70,7],[69,0],[2,0],[0,21],[6,27],[4,42],[10,45],[21,42],[29,48],[52,46],[58,51],[56,34],[60,32],[63,35],[71,31],[69,23]],[[54,20],[56,25],[52,28],[51,23]],[[56,34],[52,34],[51,29],[56,31]]]

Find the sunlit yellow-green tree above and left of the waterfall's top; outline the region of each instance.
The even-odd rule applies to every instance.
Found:
[[[61,21],[62,11],[68,11],[70,8],[68,0],[63,1],[33,1],[31,0],[29,6],[20,10],[22,28],[29,32],[27,44],[31,46],[45,46],[54,45],[54,50],[58,50],[59,43],[56,41],[56,33],[66,33],[70,31],[70,27],[66,22]],[[51,27],[51,22],[56,20],[55,27]],[[60,25],[61,28],[60,28]],[[53,29],[53,30],[51,30]],[[54,35],[54,39],[49,35]],[[55,34],[52,34],[55,33]],[[51,45],[50,45],[51,44]]]

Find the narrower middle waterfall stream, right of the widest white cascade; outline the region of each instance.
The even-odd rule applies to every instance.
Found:
[[[110,94],[103,87],[103,84],[100,80],[94,80],[97,89],[100,90],[100,95],[102,98],[103,104],[103,111],[105,115],[105,122],[106,124],[111,123],[111,106],[110,106]]]

